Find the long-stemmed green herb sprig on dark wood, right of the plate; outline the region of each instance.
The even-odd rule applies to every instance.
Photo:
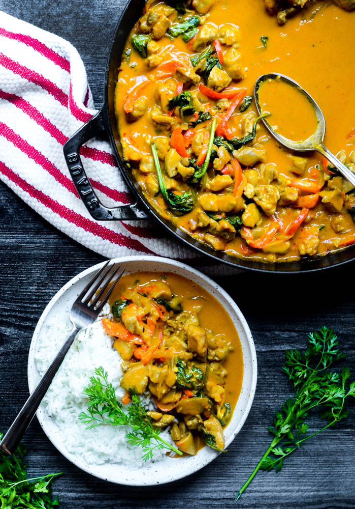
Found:
[[[308,346],[304,353],[299,350],[285,352],[286,360],[282,371],[288,376],[295,390],[295,397],[288,399],[281,410],[276,412],[274,426],[269,427],[274,438],[247,482],[239,490],[235,502],[260,468],[276,468],[279,472],[284,459],[303,442],[347,417],[345,400],[350,396],[355,397],[355,382],[348,382],[350,370],[344,367],[340,374],[326,371],[334,362],[344,357],[338,349],[337,335],[327,327],[309,333]],[[308,413],[316,408],[320,410],[320,417],[327,421],[327,425],[304,436],[308,430],[305,419]]]

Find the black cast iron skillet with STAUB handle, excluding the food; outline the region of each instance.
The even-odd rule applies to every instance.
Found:
[[[296,262],[287,263],[261,263],[248,260],[240,260],[215,251],[211,247],[201,244],[193,239],[187,233],[182,232],[167,219],[160,217],[143,195],[139,184],[135,181],[131,168],[123,161],[122,147],[117,130],[115,111],[114,111],[114,94],[118,76],[118,67],[121,62],[121,54],[124,49],[125,41],[130,34],[133,25],[142,15],[145,0],[129,0],[124,8],[121,17],[118,20],[113,40],[106,63],[105,75],[105,102],[97,115],[92,117],[84,124],[64,145],[64,157],[68,164],[68,168],[75,187],[81,197],[84,205],[91,216],[99,221],[105,220],[132,220],[132,219],[152,219],[154,218],[163,227],[165,227],[176,239],[185,242],[185,244],[196,249],[200,253],[207,254],[215,261],[225,263],[239,268],[250,269],[262,272],[282,272],[297,273],[306,271],[315,271],[326,269],[335,265],[349,262],[355,258],[355,246],[347,249],[328,254],[320,258],[303,258]],[[94,136],[102,136],[106,134],[109,138],[112,150],[116,156],[117,165],[128,185],[132,194],[136,197],[136,203],[132,205],[120,205],[118,207],[105,207],[96,196],[89,179],[86,176],[82,165],[79,149]]]

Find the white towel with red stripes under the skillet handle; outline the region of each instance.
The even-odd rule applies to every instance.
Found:
[[[77,50],[0,11],[0,179],[58,230],[107,258],[158,254],[231,273],[152,221],[91,218],[71,180],[63,145],[95,113]],[[81,156],[103,203],[131,203],[107,142],[90,140]]]

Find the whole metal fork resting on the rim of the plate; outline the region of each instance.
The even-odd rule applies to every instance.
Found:
[[[124,269],[122,269],[116,276],[120,266],[117,264],[108,266],[109,262],[110,260],[99,270],[98,273],[94,275],[89,284],[86,285],[84,290],[74,302],[69,315],[70,321],[73,324],[73,330],[67,337],[67,340],[64,342],[56,357],[53,359],[37,387],[33,390],[33,392],[31,392],[28,400],[23,405],[9,431],[1,441],[0,449],[5,451],[5,453],[9,455],[14,454],[16,447],[20,443],[29,423],[40,406],[40,403],[44,398],[44,395],[47,392],[56,372],[58,371],[60,364],[75,340],[77,333],[80,329],[84,329],[98,318],[104,304],[110,297],[112,290],[115,288],[118,280],[122,276]],[[113,272],[111,272],[112,269],[114,269]],[[115,276],[116,278],[114,279]],[[111,286],[109,286],[110,283],[112,283]],[[98,292],[99,289],[100,291]],[[98,293],[96,294],[96,292]]]

